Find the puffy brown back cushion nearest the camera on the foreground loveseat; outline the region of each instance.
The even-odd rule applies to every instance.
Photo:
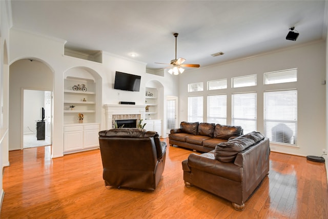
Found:
[[[254,140],[247,137],[237,137],[231,141],[220,143],[215,147],[215,158],[221,162],[234,162],[240,151],[254,144]]]

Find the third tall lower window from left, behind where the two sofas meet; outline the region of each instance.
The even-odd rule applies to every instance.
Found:
[[[241,126],[244,134],[256,131],[256,93],[232,94],[232,125]]]

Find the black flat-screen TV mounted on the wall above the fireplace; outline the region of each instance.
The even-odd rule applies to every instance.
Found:
[[[140,75],[128,74],[116,71],[114,89],[139,91],[140,89]]]

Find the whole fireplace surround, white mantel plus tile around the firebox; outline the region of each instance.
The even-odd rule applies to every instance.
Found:
[[[145,106],[144,105],[104,105],[106,112],[106,129],[115,128],[115,120],[144,120]]]

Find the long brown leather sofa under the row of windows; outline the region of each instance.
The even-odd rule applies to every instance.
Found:
[[[240,126],[224,126],[212,123],[181,122],[180,128],[171,129],[169,144],[201,152],[212,151],[215,146],[243,133]]]

